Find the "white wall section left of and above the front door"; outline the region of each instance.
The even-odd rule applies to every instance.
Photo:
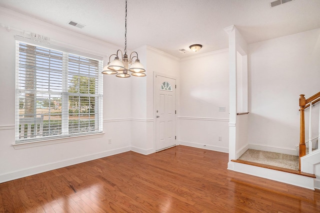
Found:
[[[135,51],[138,52],[140,61],[146,62],[146,77],[132,77],[131,146],[135,152],[150,154],[155,152],[153,76],[154,73],[168,75],[178,81],[179,60],[150,46],[143,46]]]

